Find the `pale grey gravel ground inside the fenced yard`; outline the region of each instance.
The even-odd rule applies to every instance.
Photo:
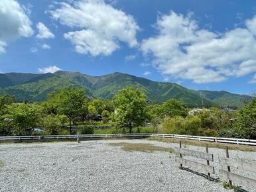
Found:
[[[174,154],[126,152],[107,145],[115,142],[178,146],[149,140],[0,144],[0,191],[231,191],[221,182],[178,169]],[[210,148],[209,152],[215,160],[225,156],[224,150]],[[229,155],[251,160],[256,157],[255,152],[235,150]],[[218,172],[213,176],[218,177]]]

